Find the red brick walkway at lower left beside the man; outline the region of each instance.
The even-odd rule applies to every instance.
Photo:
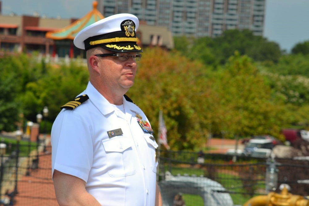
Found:
[[[7,134],[6,136],[9,136]],[[11,135],[12,136],[12,135]],[[44,139],[40,136],[40,139]],[[51,147],[50,136],[46,138],[47,147],[46,153],[43,152],[43,147],[40,147],[39,152],[39,165],[38,169],[29,169],[29,175],[27,174],[28,157],[19,159],[18,170],[18,194],[14,198],[16,206],[57,206],[56,195],[53,187],[53,181],[51,179]],[[32,165],[32,159],[37,155],[36,151],[32,151],[30,155],[30,165]],[[12,180],[15,180],[13,175]],[[14,191],[15,183],[6,182],[2,186],[2,194],[8,189]]]

